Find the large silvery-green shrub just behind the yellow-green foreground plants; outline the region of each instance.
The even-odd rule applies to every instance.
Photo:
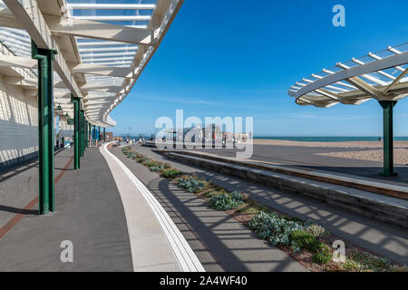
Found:
[[[304,229],[299,222],[278,218],[275,213],[259,212],[248,226],[257,232],[257,236],[268,240],[273,246],[290,246],[291,234]]]

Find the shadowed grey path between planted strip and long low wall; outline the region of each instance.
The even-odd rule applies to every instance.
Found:
[[[215,173],[208,169],[196,168],[173,160],[165,160],[162,155],[152,152],[150,148],[136,146],[135,149],[155,160],[170,163],[174,168],[210,179],[231,191],[246,192],[251,198],[281,212],[305,220],[313,219],[338,237],[343,237],[357,246],[408,265],[408,233],[403,231],[401,227],[393,227],[322,202],[287,194],[277,189],[269,189],[244,179]]]

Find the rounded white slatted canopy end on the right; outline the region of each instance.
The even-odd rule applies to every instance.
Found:
[[[399,101],[408,95],[408,43],[346,63],[296,82],[288,94],[299,105],[328,108],[337,103],[357,105],[371,99]]]

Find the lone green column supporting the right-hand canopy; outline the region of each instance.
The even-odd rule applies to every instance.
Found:
[[[384,172],[386,177],[397,176],[393,172],[393,106],[395,101],[380,101],[384,115]]]

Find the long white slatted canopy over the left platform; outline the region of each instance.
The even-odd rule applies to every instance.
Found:
[[[99,1],[96,1],[99,2]],[[11,85],[37,90],[31,40],[54,49],[54,105],[73,116],[71,94],[85,118],[115,126],[109,116],[131,92],[183,0],[0,0],[0,73]],[[13,71],[7,70],[11,68]]]

